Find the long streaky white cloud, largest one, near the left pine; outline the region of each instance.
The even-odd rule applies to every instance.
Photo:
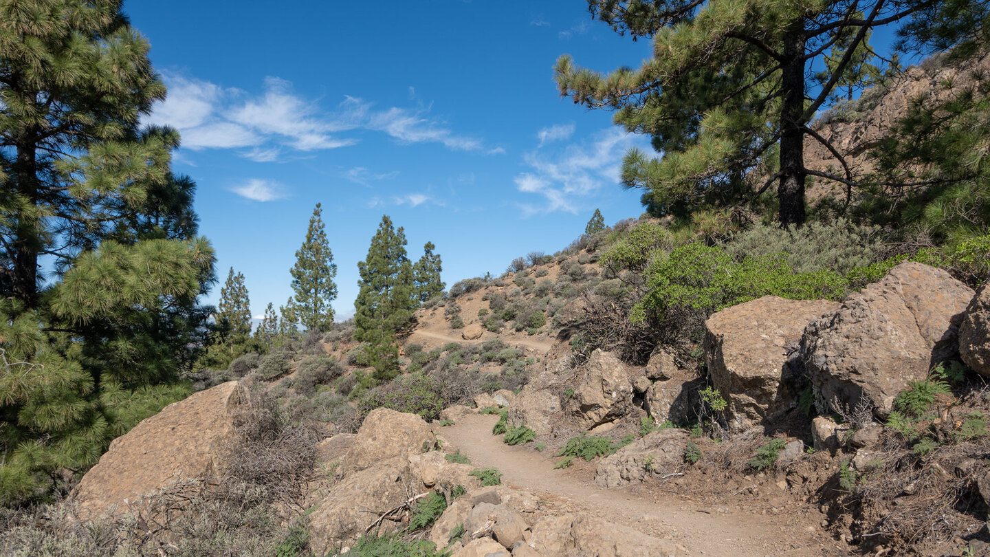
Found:
[[[176,128],[182,146],[193,151],[249,148],[240,155],[270,163],[293,151],[354,145],[357,138],[340,134],[368,130],[384,133],[400,144],[439,143],[454,151],[504,153],[501,148],[486,147],[480,139],[454,133],[431,116],[430,107],[379,109],[358,97],[345,96],[336,110],[326,111],[278,77],[266,77],[260,95],[171,72],[163,78],[168,97],[155,105],[145,123]],[[412,99],[415,89],[409,87],[409,93]]]

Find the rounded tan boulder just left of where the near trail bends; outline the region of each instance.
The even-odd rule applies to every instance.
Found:
[[[436,444],[437,437],[420,416],[375,408],[357,430],[341,462],[341,471],[350,474],[393,457],[430,450]]]

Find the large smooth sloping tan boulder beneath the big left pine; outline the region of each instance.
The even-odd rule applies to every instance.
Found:
[[[120,515],[148,494],[224,468],[247,390],[232,381],[165,406],[114,439],[73,497],[82,516]]]

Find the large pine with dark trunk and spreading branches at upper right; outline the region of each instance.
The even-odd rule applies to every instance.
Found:
[[[575,67],[570,56],[561,56],[555,68],[561,94],[616,110],[617,124],[649,134],[663,153],[657,160],[630,151],[623,184],[644,188],[651,212],[686,215],[706,205],[744,203],[776,181],[784,226],[805,221],[807,176],[853,184],[841,155],[840,173],[805,167],[804,145],[820,142],[838,155],[809,123],[837,86],[854,80],[856,65],[866,61],[862,46],[870,30],[917,22],[930,12],[933,19],[976,22],[986,14],[978,0],[588,0],[588,6],[615,31],[653,42],[654,55],[639,70],[603,75]],[[840,41],[841,58],[827,65],[823,57]],[[823,66],[828,78],[809,86],[809,68]],[[769,178],[749,183],[751,174]]]

